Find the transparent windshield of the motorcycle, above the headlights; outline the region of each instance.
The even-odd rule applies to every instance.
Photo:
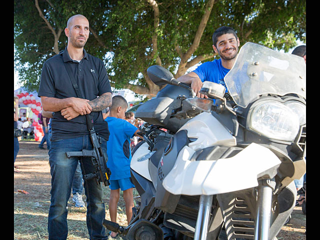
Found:
[[[306,98],[305,75],[302,57],[247,42],[240,48],[224,81],[235,103],[246,107],[266,93],[281,96],[295,93]]]

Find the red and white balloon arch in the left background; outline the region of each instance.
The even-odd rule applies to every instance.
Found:
[[[41,101],[39,98],[36,98],[33,94],[29,94],[28,92],[24,91],[19,94],[16,94],[19,98],[19,103],[23,103],[27,107],[31,108],[32,114],[32,126],[33,126],[33,133],[34,133],[34,140],[40,141],[44,136],[42,124],[38,122],[38,114],[42,110]]]

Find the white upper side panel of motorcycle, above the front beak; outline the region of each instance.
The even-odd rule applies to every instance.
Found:
[[[209,112],[202,112],[193,117],[179,131],[183,129],[187,130],[189,138],[197,138],[189,143],[189,147],[195,151],[213,145],[236,145],[235,137]]]

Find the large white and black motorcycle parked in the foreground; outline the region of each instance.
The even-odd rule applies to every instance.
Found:
[[[131,160],[140,202],[127,227],[104,226],[136,240],[274,239],[305,173],[303,59],[247,42],[226,93],[203,82],[208,98],[161,66],[148,75],[169,85],[135,113],[148,123]]]

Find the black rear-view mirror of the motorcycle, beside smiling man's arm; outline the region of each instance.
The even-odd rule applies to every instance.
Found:
[[[146,72],[150,77],[151,81],[158,86],[161,86],[164,84],[172,84],[172,85],[178,84],[178,81],[173,77],[172,73],[162,66],[159,66],[159,65],[149,66],[148,69],[146,69]]]

